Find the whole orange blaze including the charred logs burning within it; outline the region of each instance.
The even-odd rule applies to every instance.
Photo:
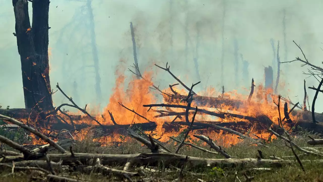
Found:
[[[163,91],[159,90],[163,103],[156,104],[158,98],[150,91],[150,87],[155,86],[151,81],[144,79],[150,78],[151,75],[151,72],[145,72],[143,75],[140,74],[141,79],[134,78],[129,83],[125,83],[126,77],[121,73],[118,74],[114,92],[102,114],[89,117],[84,108],[80,111],[85,115],[76,117],[75,113],[65,113],[59,109],[57,116],[66,123],[70,120],[75,128],[56,129],[60,125],[56,122],[46,126],[47,135],[56,136],[56,140],[60,137],[83,140],[86,136],[92,135],[93,141],[101,145],[113,145],[121,141],[126,142],[127,137],[120,136],[127,136],[127,128],[131,127],[142,130],[144,134],[149,134],[161,142],[166,142],[169,137],[178,137],[186,132],[197,107],[193,132],[189,132],[189,136],[207,135],[224,147],[239,143],[243,137],[257,141],[269,141],[275,138],[268,128],[279,125],[277,120],[279,112],[274,102],[267,101],[266,96],[270,91],[264,89],[261,84],[255,87],[252,82],[253,88],[249,96],[235,92],[220,93],[212,87],[203,91],[203,94],[208,96],[200,96],[200,93],[180,90],[175,87],[177,85],[175,84]],[[180,83],[183,85],[181,81]],[[255,96],[252,97],[253,95]],[[187,98],[191,98],[191,101]],[[277,103],[278,96],[271,95],[271,99]],[[191,108],[186,112],[188,105]],[[283,108],[281,103],[280,113],[284,113]],[[49,116],[53,115],[47,117]],[[293,123],[284,121],[285,128],[291,129],[300,117],[300,114],[291,115],[288,120]],[[218,129],[214,125],[236,133]],[[34,137],[32,143],[42,144]]]

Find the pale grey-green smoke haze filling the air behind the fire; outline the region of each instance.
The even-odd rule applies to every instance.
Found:
[[[249,88],[251,78],[255,84],[264,83],[264,67],[272,65],[273,51],[270,39],[280,41],[281,61],[291,61],[303,56],[295,40],[301,45],[309,62],[320,66],[323,55],[320,47],[323,40],[321,21],[323,19],[323,1],[311,0],[225,0],[224,18],[224,87],[225,91],[242,91]],[[193,58],[196,55],[196,23],[200,24],[200,43],[198,69],[202,83],[196,88],[202,91],[207,85],[221,90],[220,59],[222,51],[222,0],[92,0],[96,43],[101,76],[101,109],[109,102],[115,86],[115,70],[120,65],[133,64],[130,21],[135,28],[138,62],[141,72],[157,71],[153,81],[161,88],[167,88],[175,80],[152,65],[158,63],[171,65],[171,71],[180,76],[187,85],[199,81]],[[29,3],[31,12],[31,3]],[[89,22],[82,10],[85,2],[73,0],[52,0],[49,8],[49,52],[50,82],[56,90],[60,87],[76,103],[96,105],[95,72],[91,54]],[[287,60],[284,51],[283,9],[286,10]],[[188,16],[188,64],[186,65],[185,19]],[[31,13],[30,13],[31,16]],[[21,64],[17,51],[15,17],[11,1],[1,1],[0,6],[0,105],[10,108],[24,108],[21,78]],[[171,31],[172,30],[172,31]],[[172,32],[172,33],[171,33]],[[242,63],[240,53],[249,61],[249,80],[242,80],[239,73],[239,85],[234,80],[234,39],[238,43],[239,72]],[[172,46],[171,46],[172,39]],[[300,62],[281,64],[279,93],[289,96],[296,103],[303,102],[303,80],[309,67],[300,67]],[[84,70],[82,70],[82,68]],[[126,67],[125,67],[126,68]],[[276,66],[274,67],[274,83]],[[130,76],[130,72],[125,72]],[[240,80],[241,79],[241,80]],[[307,78],[307,86],[317,87],[315,78]],[[78,93],[73,84],[77,83]],[[275,84],[274,84],[275,85]],[[314,91],[307,89],[310,105]],[[54,105],[67,102],[60,93],[53,95]],[[316,112],[323,111],[322,94],[319,94]],[[308,107],[308,106],[307,106]]]

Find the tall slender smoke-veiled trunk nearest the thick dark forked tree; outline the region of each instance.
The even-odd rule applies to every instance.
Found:
[[[94,16],[93,16],[91,2],[92,0],[87,1],[87,8],[89,13],[90,37],[91,37],[92,56],[93,56],[94,71],[95,71],[95,93],[97,96],[97,102],[100,103],[102,99],[102,92],[101,92],[101,85],[100,85],[101,77],[99,73],[99,57],[98,57],[98,49],[97,49],[97,43],[95,38]]]

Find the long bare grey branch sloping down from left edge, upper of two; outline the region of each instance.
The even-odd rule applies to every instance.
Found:
[[[15,120],[13,118],[10,118],[8,116],[4,116],[2,114],[0,114],[0,118],[2,120],[7,120],[15,125],[18,125],[19,127],[26,129],[28,131],[30,131],[31,133],[35,134],[36,136],[38,136],[39,138],[43,139],[44,141],[48,142],[51,146],[55,147],[59,152],[61,153],[65,153],[66,150],[64,148],[62,148],[61,146],[57,145],[52,139],[48,138],[47,136],[43,135],[42,133],[40,133],[39,131],[36,131],[35,129],[23,124],[22,122]]]

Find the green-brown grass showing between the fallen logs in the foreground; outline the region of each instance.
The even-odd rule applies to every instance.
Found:
[[[298,133],[297,137],[293,136],[293,141],[297,143],[300,147],[311,147],[306,144],[308,140],[307,136],[309,133],[303,132]],[[311,134],[312,137],[318,138],[318,136]],[[175,151],[175,142],[169,141],[165,143],[165,147]],[[210,149],[208,146],[203,145],[203,142],[199,141],[196,145]],[[254,177],[251,181],[323,181],[323,165],[322,162],[315,162],[314,160],[321,159],[317,156],[311,155],[300,155],[301,152],[297,151],[299,158],[303,161],[305,172],[302,171],[299,164],[294,157],[291,149],[286,147],[285,143],[280,139],[275,139],[271,143],[267,144],[269,148],[250,146],[247,141],[241,142],[235,146],[225,148],[225,151],[234,156],[234,158],[257,158],[259,156],[257,150],[261,150],[264,158],[269,159],[269,156],[275,155],[276,157],[292,156],[289,158],[294,162],[291,165],[283,166],[281,168],[271,168],[271,170],[255,170],[255,166],[231,166],[231,167],[222,167],[217,166],[215,168],[207,167],[197,168],[197,169],[187,169],[185,166],[183,168],[183,178],[182,181],[198,181],[202,179],[203,181],[235,181],[237,176],[241,181],[249,181],[247,177]],[[323,151],[323,148],[316,148],[320,151]],[[150,152],[145,146],[142,146],[141,143],[134,139],[130,139],[127,142],[122,143],[120,146],[116,147],[97,147],[96,143],[93,142],[92,138],[89,137],[83,141],[78,141],[73,147],[74,152],[87,152],[87,153],[101,153],[101,154],[134,154],[140,152]],[[201,158],[223,158],[219,154],[209,154],[202,152],[198,149],[184,145],[179,154],[201,157]],[[304,160],[307,160],[304,161]],[[310,160],[310,161],[308,161]],[[123,166],[110,166],[112,168],[121,169]],[[149,170],[152,169],[151,171]],[[130,168],[130,171],[138,171],[139,168]],[[144,181],[174,181],[179,177],[180,169],[178,168],[164,168],[162,164],[158,167],[145,167],[141,169],[144,171],[145,176],[142,177]],[[237,175],[236,175],[237,174]],[[31,181],[33,175],[26,173],[14,173],[8,174],[4,172],[0,177],[1,181],[8,182],[24,182]],[[81,173],[69,174],[72,176],[77,176],[82,179],[87,179],[91,181],[120,181],[120,178],[114,176],[102,176],[98,174],[83,175]],[[133,177],[132,180],[141,180],[139,177]]]

